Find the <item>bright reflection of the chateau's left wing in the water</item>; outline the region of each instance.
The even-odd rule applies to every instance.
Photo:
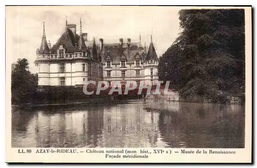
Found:
[[[80,107],[54,114],[40,111],[35,120],[39,148],[96,147],[101,141],[103,107]]]

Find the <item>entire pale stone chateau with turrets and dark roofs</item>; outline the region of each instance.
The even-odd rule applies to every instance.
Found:
[[[119,43],[104,44],[102,38],[96,44],[95,38],[87,40],[87,33],[80,35],[75,24],[68,24],[64,33],[52,47],[47,43],[45,26],[40,48],[36,50],[35,65],[38,67],[39,86],[83,86],[88,80],[106,80],[109,86],[116,81],[136,80],[138,85],[156,84],[159,59],[152,42],[146,47],[119,39]]]

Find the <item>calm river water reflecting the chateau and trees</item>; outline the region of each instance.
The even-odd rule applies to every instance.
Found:
[[[244,148],[245,107],[128,100],[12,111],[17,148]]]

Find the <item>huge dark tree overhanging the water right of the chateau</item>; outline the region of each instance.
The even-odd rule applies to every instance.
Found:
[[[172,80],[182,97],[223,102],[244,94],[244,10],[180,10],[179,20],[182,32],[160,58],[160,79]]]

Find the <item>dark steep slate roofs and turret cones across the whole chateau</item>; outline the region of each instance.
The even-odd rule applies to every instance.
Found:
[[[48,48],[47,40],[45,34],[43,33],[40,52],[57,53],[60,44],[64,45],[66,53],[74,53],[83,49],[89,49],[93,52],[93,59],[97,60],[102,58],[102,62],[105,62],[106,59],[112,59],[113,64],[119,64],[120,59],[124,58],[126,59],[127,64],[134,64],[135,59],[141,59],[144,61],[153,58],[154,60],[159,60],[152,42],[149,46],[147,54],[145,53],[145,49],[140,42],[122,43],[122,46],[119,43],[103,44],[103,49],[101,51],[100,45],[96,45],[95,40],[84,41],[82,35],[74,35],[74,33],[72,33],[72,31],[67,27],[65,28],[65,32],[58,39],[57,43],[52,46],[51,50]]]

